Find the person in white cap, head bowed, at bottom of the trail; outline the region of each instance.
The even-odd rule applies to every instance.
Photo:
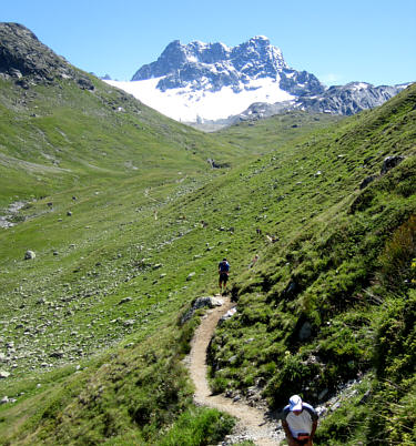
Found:
[[[290,446],[313,445],[318,415],[298,395],[291,396],[283,409],[282,427]]]

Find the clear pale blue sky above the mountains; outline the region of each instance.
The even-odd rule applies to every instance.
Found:
[[[326,83],[416,81],[416,0],[7,0],[19,22],[78,68],[130,80],[172,40],[230,47],[266,36]]]

